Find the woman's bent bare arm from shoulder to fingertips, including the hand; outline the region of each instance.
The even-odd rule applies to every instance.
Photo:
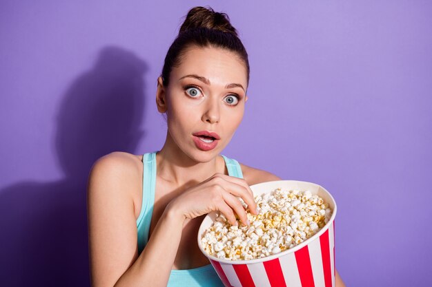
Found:
[[[141,255],[132,190],[139,182],[134,164],[118,153],[99,159],[88,182],[88,227],[92,286],[166,286],[185,220],[222,211],[234,224],[246,224],[240,197],[256,214],[246,182],[215,174],[187,189],[166,207]]]

